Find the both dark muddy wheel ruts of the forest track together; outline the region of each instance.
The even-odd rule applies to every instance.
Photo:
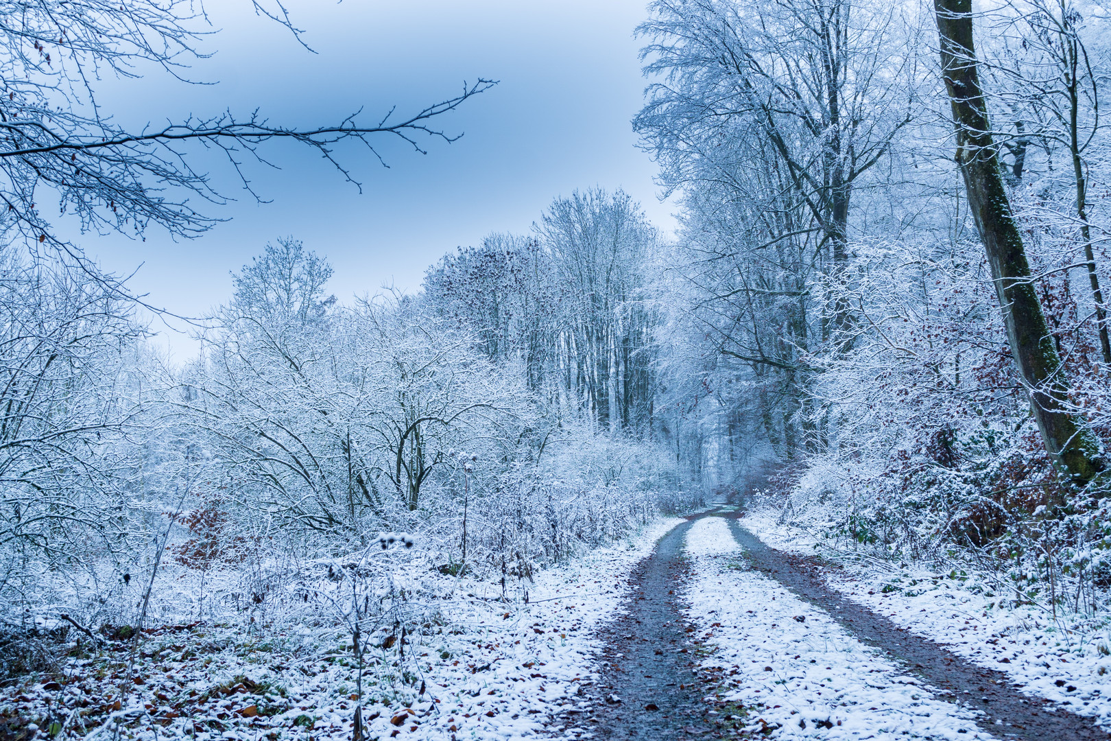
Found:
[[[978,725],[997,739],[1108,741],[1093,721],[1048,700],[1027,697],[1005,674],[969,663],[939,643],[915,637],[857,604],[822,581],[814,565],[764,545],[735,512],[688,519],[660,539],[633,572],[624,613],[603,629],[602,668],[591,719],[598,738],[671,741],[740,738],[742,722],[713,702],[715,678],[698,670],[700,645],[683,618],[682,558],[687,531],[701,517],[720,515],[752,568],[820,607],[862,642],[918,674],[941,700],[971,708]],[[738,595],[743,599],[743,595]],[[708,701],[709,700],[709,701]]]

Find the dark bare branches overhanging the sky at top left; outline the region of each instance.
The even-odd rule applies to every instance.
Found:
[[[254,1],[254,8],[299,33],[280,3]],[[241,164],[250,159],[266,163],[259,146],[272,139],[314,149],[358,187],[337,158],[338,144],[358,142],[381,160],[374,142],[382,134],[419,152],[427,138],[453,141],[458,136],[438,128],[437,117],[494,84],[482,79],[463,83],[458,94],[408,114],[390,109],[368,121],[359,110],[306,128],[273,122],[258,111],[228,110],[133,131],[101,109],[94,88],[106,76],[139,77],[153,66],[184,79],[187,64],[204,57],[197,44],[211,32],[206,23],[203,9],[187,0],[0,2],[3,234],[61,246],[41,214],[43,199],[53,194],[60,213],[77,217],[83,230],[141,236],[154,223],[176,237],[199,234],[218,218],[192,201],[214,206],[226,197],[213,189],[207,172],[194,169],[186,152],[189,142],[224,154],[248,190]]]

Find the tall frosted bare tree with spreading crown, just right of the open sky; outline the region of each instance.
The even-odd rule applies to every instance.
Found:
[[[843,276],[853,190],[910,121],[907,74],[899,53],[901,19],[893,6],[858,0],[659,0],[639,32],[641,56],[658,78],[634,119],[643,146],[671,188],[713,179],[713,160],[731,137],[759,137],[768,150],[750,167],[779,159],[787,188],[822,239],[815,259]],[[741,153],[743,150],[737,150]],[[779,184],[775,186],[779,188]],[[849,307],[834,297],[829,333],[851,337]]]

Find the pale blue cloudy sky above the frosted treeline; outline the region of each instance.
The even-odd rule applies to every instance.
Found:
[[[200,161],[237,199],[209,212],[229,219],[200,239],[174,242],[152,229],[146,241],[86,234],[90,256],[131,272],[156,306],[198,316],[223,301],[229,271],[267,241],[294,237],[336,268],[340,298],[384,283],[420,284],[424,268],[491,231],[524,232],[552,198],[574,189],[623,188],[652,221],[673,228],[673,207],[657,200],[654,167],[635,148],[630,119],[644,80],[633,29],[644,0],[296,0],[287,3],[304,41],[258,18],[249,0],[208,3],[216,33],[193,63],[191,86],[151,73],[106,80],[101,103],[130,126],[186,114],[258,108],[273,121],[334,122],[362,108],[364,120],[457,94],[463,81],[499,80],[441,120],[464,136],[428,142],[421,156],[382,142],[389,169],[356,147],[340,151],[362,193],[312,152],[288,143],[266,154],[280,169],[248,170],[264,198],[239,190],[219,160]],[[181,358],[192,347],[170,339]]]

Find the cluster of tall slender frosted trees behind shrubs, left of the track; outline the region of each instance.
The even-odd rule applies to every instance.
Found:
[[[618,192],[558,199],[536,233],[494,234],[429,270],[426,297],[473,328],[493,362],[519,363],[554,409],[644,433],[655,395],[660,240]]]

